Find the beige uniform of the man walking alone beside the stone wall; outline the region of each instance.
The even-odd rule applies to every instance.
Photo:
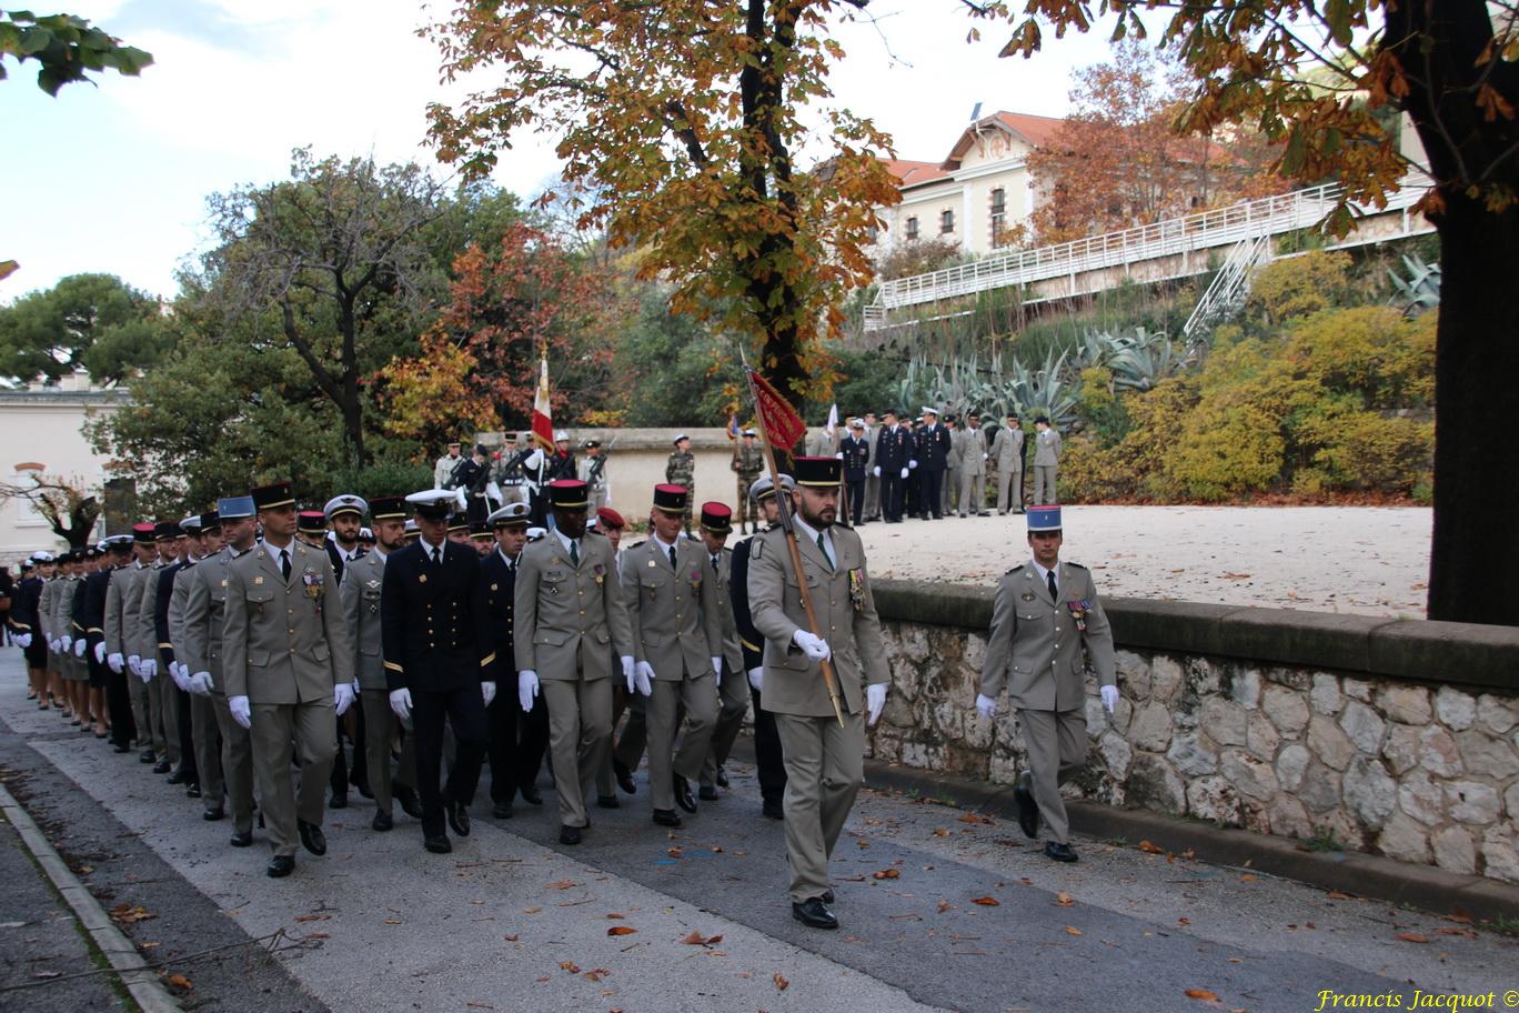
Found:
[[[1118,685],[1118,668],[1091,571],[1060,562],[1054,573],[1054,598],[1033,562],[1009,570],[996,585],[981,696],[995,699],[1007,685],[1028,747],[1039,816],[1050,838],[1063,844],[1069,823],[1060,785],[1086,764],[1086,665],[1104,686]]]

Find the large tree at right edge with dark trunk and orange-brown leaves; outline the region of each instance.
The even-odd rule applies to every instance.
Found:
[[[1419,210],[1440,234],[1435,351],[1434,539],[1429,618],[1519,624],[1519,539],[1504,535],[1519,501],[1519,442],[1507,404],[1519,375],[1519,3],[1514,0],[1296,0],[1208,3],[1027,0],[971,3],[1013,21],[1004,56],[1028,55],[1048,29],[1144,35],[1170,12],[1174,46],[1198,85],[1179,128],[1253,131],[1282,144],[1276,169],[1335,179],[1353,205],[1378,207],[1410,161],[1387,129],[1408,115],[1431,182]],[[1156,21],[1159,23],[1159,21]]]

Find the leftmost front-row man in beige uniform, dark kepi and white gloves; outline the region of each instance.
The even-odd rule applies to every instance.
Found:
[[[322,790],[337,752],[333,714],[354,702],[354,655],[331,560],[295,541],[290,483],[260,486],[252,498],[264,536],[226,568],[223,668],[228,709],[252,737],[273,850],[266,872],[278,878],[295,869],[296,835],[313,855],[327,854]],[[292,746],[301,758],[299,796]]]

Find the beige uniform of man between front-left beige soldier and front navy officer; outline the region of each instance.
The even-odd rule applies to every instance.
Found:
[[[354,635],[354,674],[358,676],[358,705],[365,714],[365,761],[375,808],[390,811],[392,785],[416,788],[416,740],[401,743],[401,767],[390,773],[390,744],[399,734],[399,720],[390,709],[390,685],[384,674],[381,644],[380,585],[384,580],[386,553],[374,550],[343,566],[339,597],[343,621]]]

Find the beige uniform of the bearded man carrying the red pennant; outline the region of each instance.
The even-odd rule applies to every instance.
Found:
[[[796,525],[819,633],[832,650],[843,696],[843,727],[819,662],[791,641],[807,629],[807,611],[785,533],[756,535],[749,557],[749,611],[766,641],[764,709],[775,714],[785,755],[785,847],[797,904],[828,890],[828,858],[864,778],[864,685],[890,679],[860,535],[840,527],[828,535],[832,560]]]

